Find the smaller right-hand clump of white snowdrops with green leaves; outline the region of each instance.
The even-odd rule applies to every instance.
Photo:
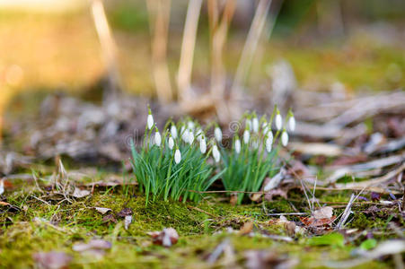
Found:
[[[242,117],[244,130],[242,137],[233,136],[232,151],[223,151],[222,177],[225,190],[234,191],[236,203],[241,204],[245,193],[259,192],[265,178],[272,178],[279,171],[278,152],[288,143],[289,131],[295,130],[295,117],[288,111],[286,120],[274,108],[272,115],[256,116],[246,113]],[[242,126],[242,124],[241,124]],[[264,191],[269,191],[263,187]]]

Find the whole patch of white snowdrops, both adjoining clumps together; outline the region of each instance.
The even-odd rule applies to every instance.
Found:
[[[177,123],[169,120],[160,132],[149,108],[142,145],[136,149],[131,143],[131,164],[146,204],[157,198],[198,201],[218,178],[225,190],[238,192],[238,204],[242,203],[242,192],[259,191],[264,178],[277,173],[277,152],[288,143],[286,126],[294,131],[295,118],[289,111],[283,125],[275,108],[269,119],[246,113],[242,121],[242,139],[235,133],[229,150],[222,146],[219,126],[210,124],[204,130],[198,122],[186,118]],[[211,126],[214,138],[208,139],[206,133]]]

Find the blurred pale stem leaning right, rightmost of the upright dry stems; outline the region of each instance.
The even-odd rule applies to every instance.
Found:
[[[271,0],[260,0],[256,12],[251,22],[251,29],[243,46],[242,56],[239,60],[238,68],[233,80],[232,92],[243,87],[246,76],[251,68],[251,62],[258,47],[259,39],[263,31],[266,18],[269,13]]]

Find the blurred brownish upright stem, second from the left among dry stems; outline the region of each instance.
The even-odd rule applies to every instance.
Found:
[[[171,1],[146,0],[152,39],[152,65],[157,97],[162,103],[172,101],[172,86],[167,65],[167,39]]]

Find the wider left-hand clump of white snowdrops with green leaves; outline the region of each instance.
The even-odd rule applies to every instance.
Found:
[[[175,124],[169,120],[160,133],[149,108],[145,137],[139,151],[131,143],[131,164],[141,191],[152,199],[198,201],[223,171],[214,175],[212,155],[219,161],[214,140],[208,141],[201,126],[191,119]]]

